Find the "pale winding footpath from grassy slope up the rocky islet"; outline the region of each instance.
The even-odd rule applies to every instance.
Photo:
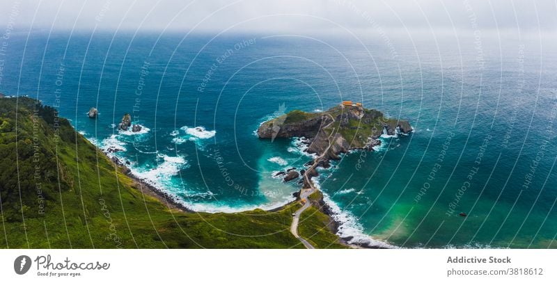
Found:
[[[328,113],[327,113],[327,115],[329,115],[329,117],[331,117],[333,119],[333,121],[330,122],[329,124],[327,124],[327,126],[323,127],[322,129],[325,129],[325,128],[329,127],[331,124],[333,124],[335,122],[333,116],[331,116]],[[332,134],[334,134],[334,131],[331,132],[331,136],[332,136]],[[303,213],[306,209],[311,207],[311,202],[309,201],[308,197],[312,193],[315,193],[315,191],[317,191],[317,188],[315,188],[315,186],[313,186],[313,181],[311,181],[311,177],[309,177],[308,175],[309,175],[309,172],[312,172],[312,170],[315,170],[315,168],[317,167],[317,164],[319,164],[319,161],[321,161],[321,159],[324,158],[324,156],[327,154],[327,152],[329,152],[329,149],[331,148],[331,145],[332,145],[331,139],[330,139],[331,136],[329,136],[329,138],[327,138],[327,140],[329,140],[329,146],[327,146],[327,149],[325,149],[324,152],[320,156],[317,156],[315,159],[313,159],[313,164],[304,173],[304,179],[306,180],[306,184],[309,184],[310,188],[302,188],[300,190],[300,201],[302,203],[304,203],[304,206],[299,208],[294,213],[294,218],[292,219],[292,225],[290,225],[290,233],[292,233],[292,235],[294,235],[307,249],[315,249],[315,247],[313,247],[313,245],[311,245],[311,243],[306,241],[306,239],[304,239],[304,238],[302,238],[301,236],[298,235],[298,225],[299,225],[301,213]]]

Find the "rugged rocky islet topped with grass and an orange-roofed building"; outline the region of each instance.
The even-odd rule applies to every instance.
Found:
[[[406,120],[386,118],[381,111],[361,105],[335,106],[322,113],[295,110],[260,125],[259,138],[308,138],[306,151],[324,155],[324,162],[339,159],[338,154],[350,149],[372,150],[381,144],[379,136],[397,132],[409,134]],[[329,147],[330,144],[330,147]]]

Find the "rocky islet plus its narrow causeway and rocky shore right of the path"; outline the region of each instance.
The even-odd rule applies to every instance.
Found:
[[[301,138],[306,146],[305,152],[315,154],[313,161],[305,164],[306,170],[301,170],[302,189],[314,188],[313,177],[317,177],[316,167],[329,168],[329,161],[340,159],[340,154],[350,150],[369,150],[380,145],[379,136],[387,134],[409,134],[413,131],[406,120],[385,118],[380,111],[366,109],[361,104],[347,105],[345,102],[340,106],[329,109],[323,113],[305,113],[302,111],[291,111],[281,117],[263,122],[258,128],[257,134],[262,139],[274,138]],[[287,171],[288,172],[288,171]],[[289,181],[287,172],[279,172],[284,175],[284,181]],[[290,172],[288,172],[290,173]],[[310,199],[313,207],[319,209],[329,217],[329,229],[334,234],[339,234],[339,228],[344,223],[336,220],[336,213],[324,201],[322,193],[317,199]],[[315,194],[314,193],[314,194]],[[300,200],[300,192],[294,194]],[[395,248],[384,243],[374,245],[369,242],[358,241],[351,243],[354,236],[340,238],[344,245],[352,248]]]

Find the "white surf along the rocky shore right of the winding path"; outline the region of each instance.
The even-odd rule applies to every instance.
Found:
[[[381,248],[398,248],[394,245],[389,245],[388,243],[377,241],[365,234],[363,232],[362,225],[358,223],[356,217],[352,213],[340,209],[340,207],[338,207],[338,204],[331,200],[331,197],[329,197],[327,193],[323,193],[323,200],[331,209],[331,217],[340,224],[338,226],[337,232],[337,235],[340,236],[340,238],[352,237],[348,241],[348,243],[350,244],[368,244]]]

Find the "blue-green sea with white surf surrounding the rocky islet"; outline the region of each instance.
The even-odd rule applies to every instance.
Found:
[[[320,170],[341,236],[556,248],[555,47],[487,34],[21,32],[2,57],[0,92],[56,106],[93,143],[120,149],[135,175],[211,212],[293,200],[295,182],[272,176],[311,156],[296,139],[259,140],[261,122],[363,102],[414,132]],[[118,131],[124,113],[143,130]]]

